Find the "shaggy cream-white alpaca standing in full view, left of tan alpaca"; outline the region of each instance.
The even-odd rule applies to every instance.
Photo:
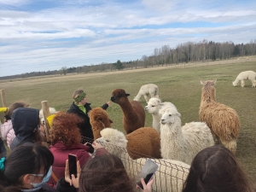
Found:
[[[191,164],[195,154],[214,145],[210,128],[203,122],[181,126],[180,113],[173,108],[161,109],[161,154],[164,159]]]

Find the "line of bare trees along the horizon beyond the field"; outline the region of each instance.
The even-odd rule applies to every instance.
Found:
[[[196,61],[229,60],[231,57],[256,55],[256,39],[247,44],[234,44],[233,42],[215,43],[203,40],[199,43],[187,42],[177,44],[175,48],[164,45],[155,48],[152,55],[143,55],[135,61],[120,61],[82,67],[61,67],[60,70],[47,72],[21,73],[17,75],[0,77],[0,79],[18,79],[45,75],[66,75],[67,73],[100,73],[123,69],[137,69]]]

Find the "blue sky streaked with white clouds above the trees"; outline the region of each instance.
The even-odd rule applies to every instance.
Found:
[[[256,39],[255,0],[0,0],[0,77]]]

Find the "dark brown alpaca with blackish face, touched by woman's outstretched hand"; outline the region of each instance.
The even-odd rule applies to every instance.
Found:
[[[111,101],[119,104],[122,108],[124,113],[123,126],[125,132],[129,134],[144,126],[146,114],[140,102],[129,102],[127,96],[130,96],[130,94],[126,94],[125,90],[116,89],[112,92]]]

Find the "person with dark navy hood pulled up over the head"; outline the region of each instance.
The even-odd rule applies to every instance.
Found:
[[[10,145],[11,150],[21,144],[43,143],[38,131],[40,125],[38,109],[16,108],[12,113],[12,125],[16,137]]]

